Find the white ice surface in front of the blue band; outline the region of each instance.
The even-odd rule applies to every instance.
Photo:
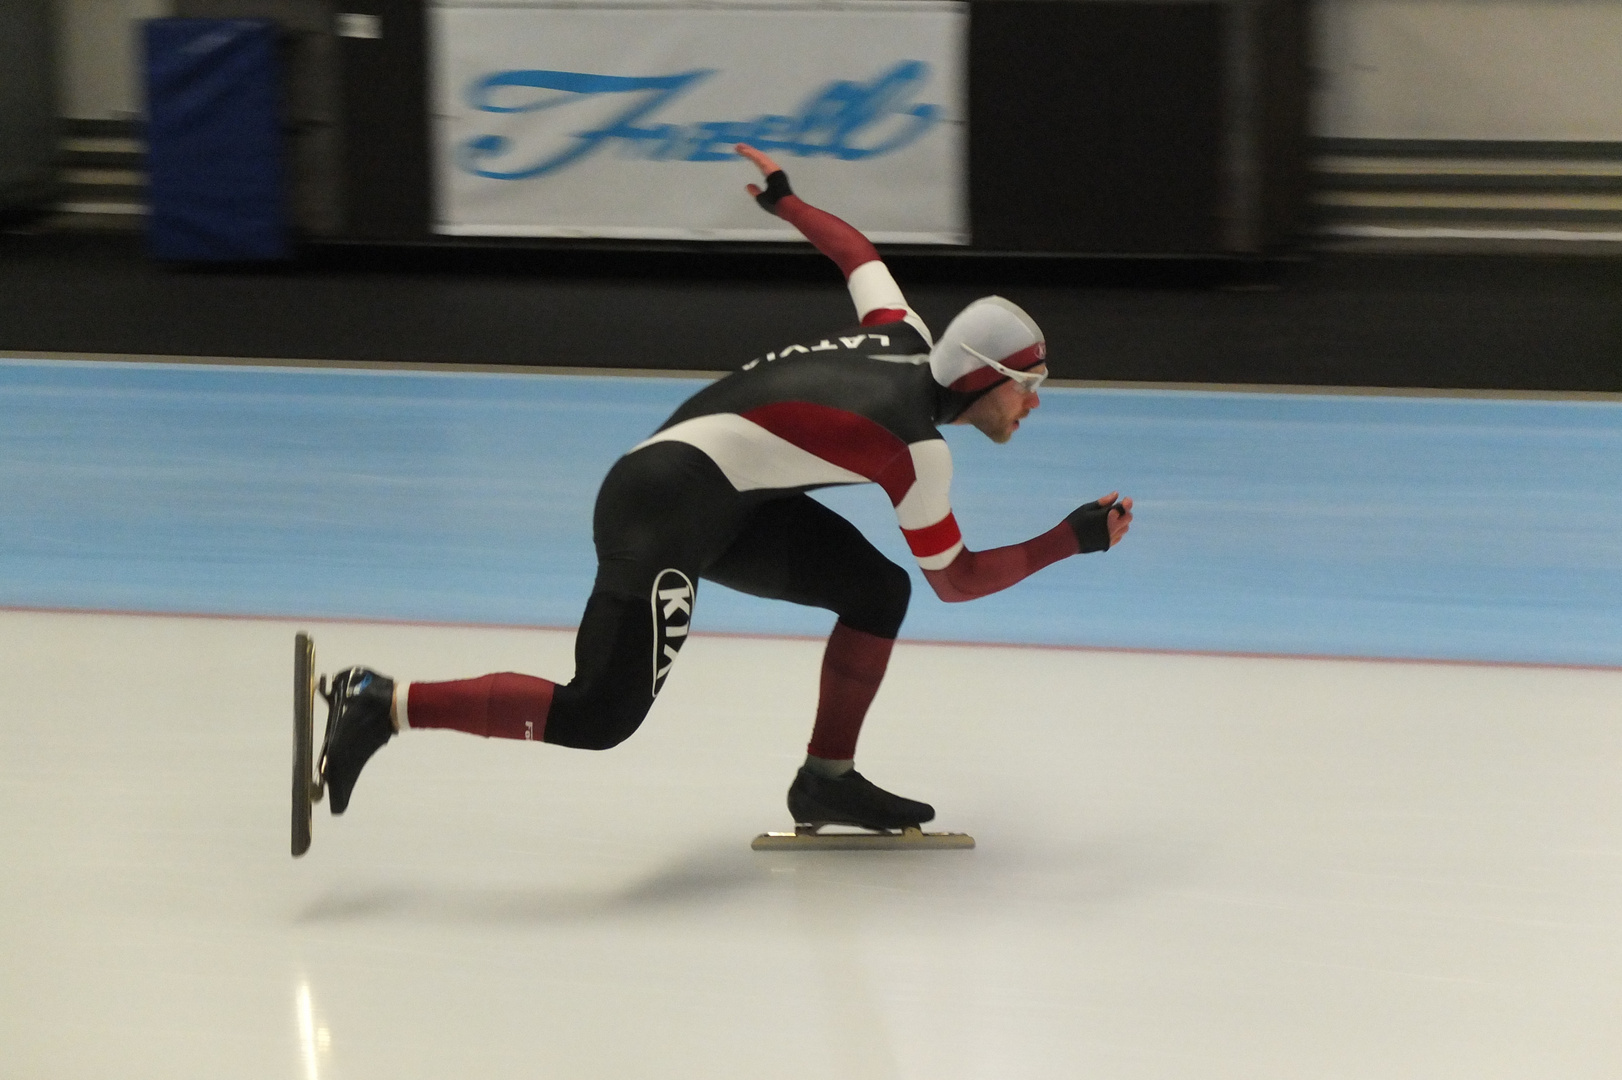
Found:
[[[1622,673],[903,644],[860,764],[980,848],[762,855],[819,647],[694,637],[620,749],[409,733],[295,861],[294,629],[0,613],[0,1077],[1622,1075]]]

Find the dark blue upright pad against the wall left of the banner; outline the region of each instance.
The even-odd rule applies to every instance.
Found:
[[[146,24],[154,258],[289,256],[276,36],[263,19]]]

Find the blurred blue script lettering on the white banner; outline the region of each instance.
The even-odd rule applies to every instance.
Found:
[[[913,94],[929,78],[929,65],[902,60],[871,83],[837,79],[813,92],[795,115],[761,115],[753,120],[704,120],[697,123],[644,123],[652,114],[715,75],[697,68],[680,75],[586,75],[582,71],[498,71],[469,89],[469,104],[480,112],[540,112],[587,101],[600,94],[634,94],[631,104],[607,125],[574,131],[571,143],[524,169],[498,169],[495,157],[514,151],[503,135],[480,135],[457,149],[457,164],[491,180],[530,180],[566,169],[587,154],[620,139],[644,157],[657,161],[727,161],[733,143],[749,143],[762,151],[800,157],[827,156],[861,161],[892,154],[923,138],[939,120],[941,105],[912,104]],[[550,91],[550,92],[548,92]],[[516,104],[503,104],[516,102]],[[876,128],[887,120],[900,126],[871,144]]]

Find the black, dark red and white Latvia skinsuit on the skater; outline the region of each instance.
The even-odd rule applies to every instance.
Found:
[[[699,581],[826,608],[809,751],[848,759],[907,613],[908,574],[806,491],[878,483],[944,600],[1006,589],[1080,550],[1061,522],[1020,545],[963,546],[952,459],[938,431],[1001,381],[941,386],[928,328],[878,251],[843,221],[787,195],[772,206],[845,272],[860,323],[785,342],[688,399],[621,457],[597,496],[597,581],[566,684],[527,675],[412,683],[406,722],[587,749],[646,718],[691,626]],[[1040,357],[1040,347],[1033,354]],[[1035,363],[1027,357],[1019,366]]]

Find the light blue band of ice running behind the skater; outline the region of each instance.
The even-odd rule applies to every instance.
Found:
[[[0,363],[0,603],[571,626],[590,506],[691,379]],[[976,548],[1127,542],[903,636],[1622,665],[1622,405],[1046,389],[947,431]],[[912,564],[874,486],[824,493]],[[701,590],[710,631],[829,616]]]

